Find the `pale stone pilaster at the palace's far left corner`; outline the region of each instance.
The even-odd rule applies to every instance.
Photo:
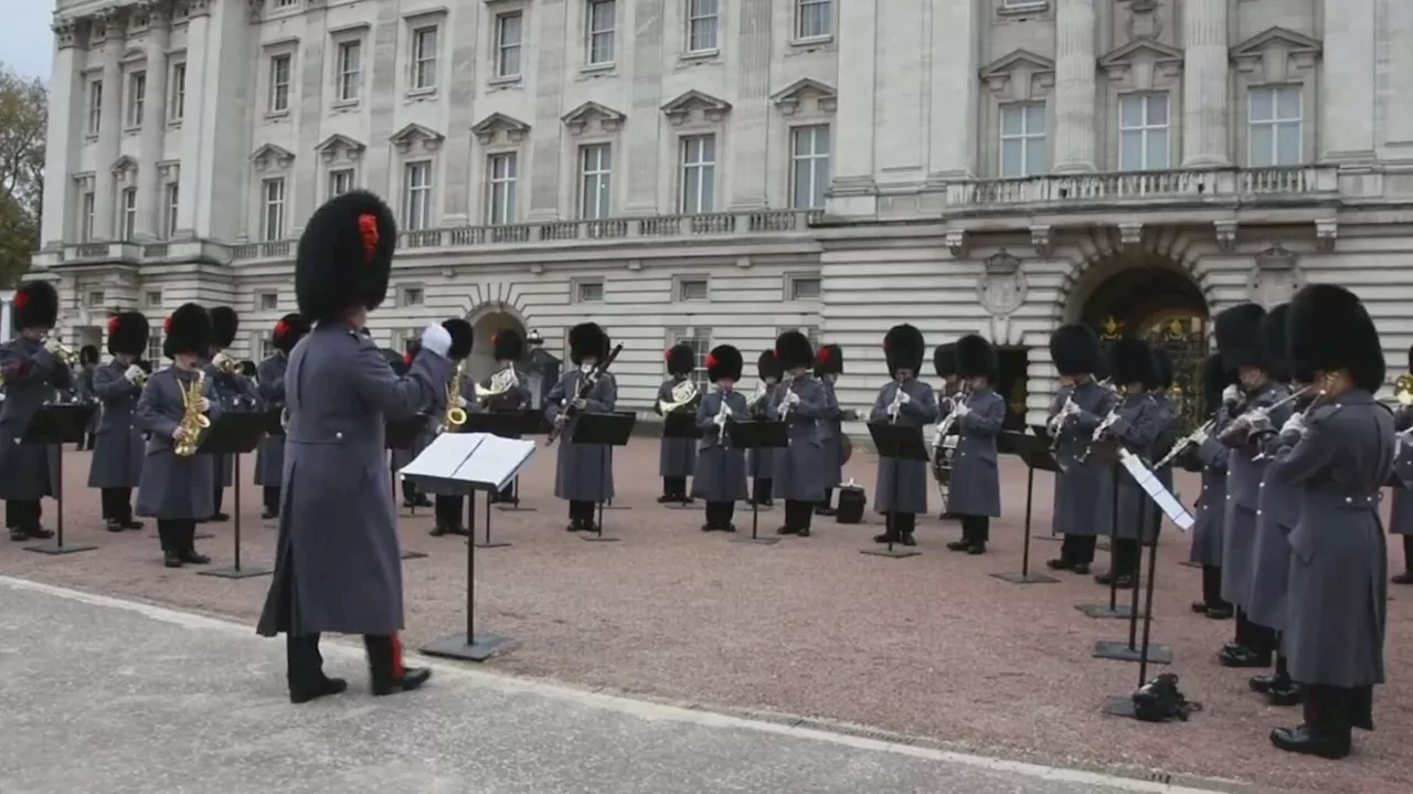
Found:
[[[44,218],[41,219],[40,240],[45,249],[58,249],[64,244],[64,219],[72,218],[75,211],[73,199],[73,167],[78,164],[75,146],[75,126],[83,123],[81,112],[82,103],[75,102],[83,96],[83,86],[78,73],[78,27],[73,20],[58,20],[54,23],[54,72],[49,76],[49,116],[44,143],[44,174],[47,185],[44,189]],[[75,229],[76,232],[76,229]]]

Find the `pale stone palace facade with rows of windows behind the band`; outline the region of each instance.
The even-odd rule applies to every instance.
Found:
[[[801,328],[863,408],[896,322],[981,332],[1013,420],[1060,322],[1171,346],[1301,283],[1413,342],[1403,0],[59,0],[42,250],[66,328],[294,309],[301,223],[367,188],[401,223],[374,333],[463,315],[558,353],[753,360]],[[160,339],[154,338],[154,350]],[[473,360],[486,374],[485,355]]]

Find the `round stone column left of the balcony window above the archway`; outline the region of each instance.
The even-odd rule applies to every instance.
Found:
[[[1056,3],[1054,172],[1094,171],[1096,54],[1094,0]]]

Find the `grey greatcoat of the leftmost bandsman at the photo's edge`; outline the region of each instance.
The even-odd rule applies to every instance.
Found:
[[[42,342],[23,336],[0,345],[0,374],[4,403],[0,403],[0,499],[38,502],[55,494],[59,482],[59,446],[20,444],[30,420],[58,390],[72,389],[69,367],[44,349]]]

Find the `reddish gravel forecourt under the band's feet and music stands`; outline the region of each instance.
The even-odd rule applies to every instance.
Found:
[[[870,455],[846,476],[873,489]],[[246,482],[253,461],[244,462]],[[86,489],[88,454],[65,456],[68,528],[73,543],[100,548],[48,557],[0,544],[0,571],[57,585],[148,599],[172,606],[257,616],[267,578],[198,576],[161,567],[151,530],[110,535],[100,530],[97,493]],[[708,708],[779,711],[866,725],[988,753],[1039,756],[1235,778],[1296,791],[1405,793],[1413,790],[1406,737],[1413,736],[1413,687],[1403,664],[1413,658],[1413,591],[1395,588],[1386,656],[1392,682],[1378,692],[1378,730],[1356,733],[1345,763],[1291,757],[1273,750],[1273,726],[1299,722],[1299,709],[1266,706],[1246,691],[1246,671],[1221,668],[1219,646],[1232,623],[1193,615],[1198,572],[1183,567],[1187,537],[1164,533],[1156,593],[1154,641],[1173,648],[1169,668],[1204,711],[1187,723],[1146,725],[1106,716],[1108,695],[1137,685],[1137,667],[1091,658],[1096,640],[1125,639],[1126,623],[1091,620],[1074,605],[1102,602],[1106,589],[1087,578],[1016,586],[989,574],[1017,571],[1024,521],[1024,469],[1002,466],[1006,516],[992,527],[992,552],[968,557],[942,544],[952,523],[918,526],[921,557],[861,555],[876,526],[815,519],[811,538],[773,547],[733,544],[702,533],[699,510],[668,510],[658,494],[657,449],[634,439],[620,451],[620,506],[606,513],[620,543],[585,543],[564,531],[552,499],[554,456],[541,451],[523,486],[537,510],[493,514],[507,548],[476,555],[479,632],[512,637],[489,663],[503,671],[682,699]],[[1180,476],[1195,493],[1195,480]],[[246,555],[273,559],[274,530],[259,520],[257,489],[244,489]],[[1190,496],[1188,496],[1190,500]],[[230,494],[227,493],[227,504]],[[1048,533],[1050,478],[1036,479],[1034,533]],[[52,504],[47,503],[52,526]],[[406,564],[407,640],[424,643],[465,624],[465,544],[428,537],[430,511],[401,521],[404,550],[428,557]],[[773,533],[781,511],[762,514]],[[750,514],[738,511],[749,531]],[[872,520],[872,516],[870,516]],[[230,524],[208,526],[199,541],[216,564],[230,558]],[[1057,551],[1031,544],[1031,565]],[[1402,551],[1390,548],[1402,564]],[[1099,568],[1105,561],[1099,561]]]

